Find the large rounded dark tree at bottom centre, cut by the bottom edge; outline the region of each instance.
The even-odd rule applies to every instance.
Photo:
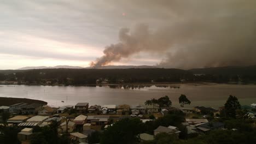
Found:
[[[101,144],[138,143],[144,124],[138,118],[124,118],[103,131]]]

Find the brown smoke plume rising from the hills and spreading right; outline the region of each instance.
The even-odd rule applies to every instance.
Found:
[[[153,3],[153,1],[150,1]],[[122,28],[119,43],[104,49],[93,67],[118,62],[138,52],[159,55],[159,67],[202,68],[256,64],[256,2],[172,1],[157,5],[170,14],[164,24]],[[167,6],[166,6],[167,5]],[[153,29],[155,28],[155,29]]]

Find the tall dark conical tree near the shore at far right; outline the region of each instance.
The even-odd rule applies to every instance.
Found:
[[[236,118],[236,110],[241,109],[241,105],[235,96],[229,95],[225,103],[226,116]]]

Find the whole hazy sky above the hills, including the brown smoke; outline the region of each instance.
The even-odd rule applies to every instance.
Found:
[[[256,64],[256,2],[2,0],[0,69]]]

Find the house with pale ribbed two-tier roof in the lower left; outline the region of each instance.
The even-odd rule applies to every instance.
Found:
[[[26,122],[18,124],[20,127],[35,127],[37,125],[42,124],[46,119],[48,119],[48,116],[34,116],[29,119],[27,119]]]

